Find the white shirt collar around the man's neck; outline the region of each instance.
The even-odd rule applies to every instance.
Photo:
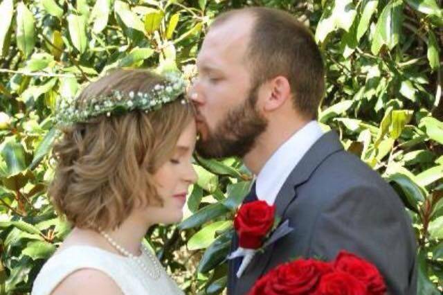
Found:
[[[320,125],[313,120],[278,147],[257,175],[257,198],[270,205],[274,204],[280,188],[293,168],[322,135]]]

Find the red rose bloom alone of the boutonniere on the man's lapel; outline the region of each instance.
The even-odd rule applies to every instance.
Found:
[[[269,206],[264,201],[243,204],[234,220],[239,246],[246,249],[260,248],[263,238],[273,226],[274,214],[275,206]]]

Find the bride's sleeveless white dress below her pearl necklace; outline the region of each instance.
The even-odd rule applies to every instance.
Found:
[[[143,262],[154,270],[150,258],[143,253]],[[181,289],[161,267],[154,280],[132,258],[86,245],[76,245],[60,251],[45,263],[34,281],[32,295],[49,295],[66,276],[79,269],[97,269],[116,282],[125,295],[182,295]]]

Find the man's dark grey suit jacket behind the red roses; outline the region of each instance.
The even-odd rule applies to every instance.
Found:
[[[324,134],[293,169],[275,199],[293,231],[257,253],[241,278],[229,262],[228,294],[246,294],[260,276],[297,257],[332,260],[341,249],[374,263],[390,294],[417,294],[415,235],[394,190]],[[237,248],[237,238],[232,249]]]

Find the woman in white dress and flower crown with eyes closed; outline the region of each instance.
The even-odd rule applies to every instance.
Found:
[[[44,294],[183,294],[143,245],[153,224],[179,222],[196,127],[184,83],[117,70],[60,104],[63,137],[48,194],[73,230],[33,285]]]

